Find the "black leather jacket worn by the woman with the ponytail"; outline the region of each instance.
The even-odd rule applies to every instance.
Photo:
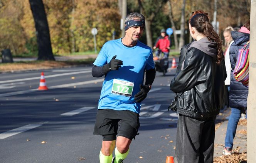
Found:
[[[172,80],[170,89],[178,94],[177,113],[193,118],[219,114],[224,106],[226,79],[224,60],[220,65],[197,48],[187,52],[184,69]]]

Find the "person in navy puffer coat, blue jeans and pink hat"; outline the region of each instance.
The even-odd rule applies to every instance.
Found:
[[[224,155],[231,155],[237,124],[241,114],[244,114],[247,109],[248,87],[244,86],[241,82],[236,81],[233,71],[236,66],[239,49],[242,49],[250,39],[250,20],[248,20],[239,31],[231,31],[231,36],[234,40],[229,48],[231,63],[229,106],[231,107],[231,115],[229,116],[229,122],[227,123],[225,147],[223,150]],[[249,44],[247,48],[249,48]]]

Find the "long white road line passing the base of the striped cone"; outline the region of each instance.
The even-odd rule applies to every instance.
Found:
[[[64,87],[79,86],[79,85],[91,84],[91,83],[94,83],[94,82],[102,82],[102,81],[104,81],[104,79],[97,79],[97,80],[85,81],[85,82],[75,82],[75,83],[70,83],[70,84],[62,84],[62,85],[58,85],[58,86],[51,86],[51,87],[48,87],[48,88],[49,89],[64,88]],[[25,93],[29,93],[29,92],[35,92],[35,91],[38,91],[38,89],[35,88],[35,89],[29,89],[29,90],[25,90],[25,91],[8,92],[8,93],[0,94],[0,97],[7,97],[7,96],[11,96],[11,95],[18,95],[18,94],[25,94]]]

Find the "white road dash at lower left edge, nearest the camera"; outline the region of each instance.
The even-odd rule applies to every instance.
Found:
[[[39,126],[42,126],[42,124],[32,124],[32,125],[29,124],[29,125],[25,125],[25,126],[22,126],[19,128],[15,128],[15,129],[12,129],[7,132],[0,133],[0,139],[5,139],[5,138],[11,137],[13,135],[17,135],[18,133],[22,133],[27,130],[31,130],[33,128],[39,127]]]

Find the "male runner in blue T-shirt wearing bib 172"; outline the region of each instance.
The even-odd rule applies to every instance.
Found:
[[[125,37],[106,42],[93,63],[92,75],[105,76],[93,132],[103,137],[100,163],[123,163],[140,127],[141,102],[155,79],[152,49],[139,41],[144,29],[145,17],[130,13]]]

